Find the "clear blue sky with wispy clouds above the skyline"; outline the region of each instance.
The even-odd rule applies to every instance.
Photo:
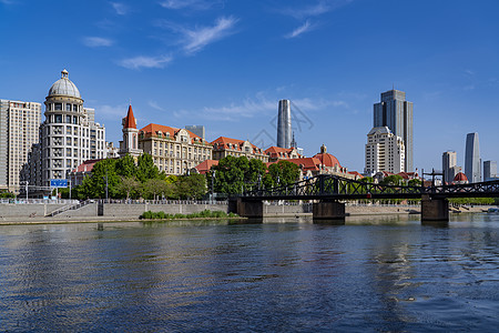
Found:
[[[0,0],[0,98],[43,102],[68,69],[85,107],[121,139],[139,127],[204,124],[206,139],[275,144],[294,103],[305,154],[320,144],[363,171],[373,104],[414,102],[415,167],[440,169],[466,133],[499,160],[499,1]]]

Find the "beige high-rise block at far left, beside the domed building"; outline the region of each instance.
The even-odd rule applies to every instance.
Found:
[[[0,189],[19,193],[19,174],[38,143],[41,104],[0,100]]]

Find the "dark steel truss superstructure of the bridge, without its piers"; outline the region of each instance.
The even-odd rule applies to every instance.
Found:
[[[241,195],[261,200],[359,200],[359,199],[499,198],[499,181],[439,186],[383,185],[333,174],[320,174],[286,186],[258,189]]]

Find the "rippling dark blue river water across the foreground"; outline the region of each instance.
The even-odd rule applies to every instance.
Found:
[[[0,226],[0,331],[497,331],[499,215]]]

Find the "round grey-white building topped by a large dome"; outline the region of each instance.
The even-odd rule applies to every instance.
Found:
[[[33,145],[31,165],[24,172],[30,184],[38,186],[49,186],[51,179],[67,179],[85,160],[106,158],[104,125],[94,121],[94,109],[83,108],[80,91],[69,80],[68,71],[61,74],[45,98],[40,144]]]

